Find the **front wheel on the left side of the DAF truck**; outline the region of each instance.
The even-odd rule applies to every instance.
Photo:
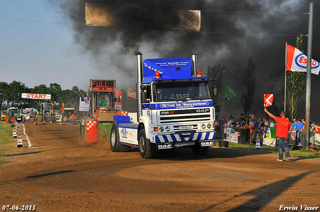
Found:
[[[138,135],[139,153],[141,158],[154,158],[155,156],[155,144],[151,143],[145,136],[145,130],[141,129]]]

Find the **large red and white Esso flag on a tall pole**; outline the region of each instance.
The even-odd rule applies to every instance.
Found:
[[[286,44],[286,71],[306,72],[307,57],[297,48]],[[320,63],[311,59],[311,73],[319,74]]]

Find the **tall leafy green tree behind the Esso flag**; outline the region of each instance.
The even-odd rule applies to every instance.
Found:
[[[301,52],[302,50],[302,34],[296,37],[296,48]],[[286,77],[286,90],[289,100],[289,116],[292,121],[297,114],[297,104],[301,99],[301,95],[305,90],[305,83],[302,80],[304,73],[298,71],[290,71],[289,76]]]

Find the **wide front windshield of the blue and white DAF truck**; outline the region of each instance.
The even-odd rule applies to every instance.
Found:
[[[210,99],[207,82],[154,83],[153,101]]]

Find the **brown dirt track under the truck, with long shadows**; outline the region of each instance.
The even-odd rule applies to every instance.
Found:
[[[113,153],[109,144],[87,146],[79,131],[79,125],[20,123],[24,147],[12,150],[1,167],[0,207],[35,205],[37,212],[320,207],[320,161],[277,162],[277,155],[218,147],[204,157],[176,149],[145,160],[134,148]]]

